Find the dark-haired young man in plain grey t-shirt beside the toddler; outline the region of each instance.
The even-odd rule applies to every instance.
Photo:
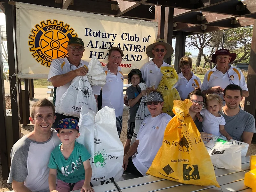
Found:
[[[224,90],[226,105],[220,114],[225,118],[225,130],[228,134],[234,140],[250,145],[253,133],[255,133],[255,120],[250,113],[239,108],[239,104],[243,100],[242,93],[242,89],[238,85],[228,85]]]

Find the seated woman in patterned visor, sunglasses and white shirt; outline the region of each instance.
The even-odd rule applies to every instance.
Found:
[[[162,146],[164,130],[172,119],[163,112],[164,99],[160,92],[152,90],[144,100],[151,116],[140,125],[136,141],[124,155],[123,168],[134,175],[145,176],[156,153]]]

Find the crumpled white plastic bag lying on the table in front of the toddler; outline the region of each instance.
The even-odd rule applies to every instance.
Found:
[[[232,141],[219,138],[209,154],[214,166],[241,171],[241,150],[241,145],[233,145]]]

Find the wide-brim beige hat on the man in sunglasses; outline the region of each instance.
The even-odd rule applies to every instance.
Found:
[[[167,59],[172,56],[172,53],[173,53],[172,45],[170,45],[169,43],[165,43],[164,39],[157,39],[156,43],[150,44],[146,48],[146,53],[147,53],[148,57],[153,58],[153,59],[155,58],[155,55],[152,53],[152,50],[154,49],[154,47],[156,45],[164,45],[165,46],[165,49],[167,50],[167,52],[164,55],[164,59]]]

